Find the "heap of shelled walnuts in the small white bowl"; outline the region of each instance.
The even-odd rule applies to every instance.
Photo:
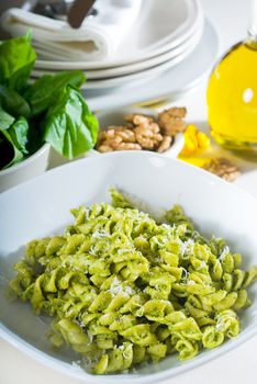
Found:
[[[153,116],[135,113],[125,116],[124,125],[109,126],[99,135],[97,149],[100,153],[113,150],[154,150],[164,153],[170,148],[174,137],[186,127],[186,109],[174,108]]]

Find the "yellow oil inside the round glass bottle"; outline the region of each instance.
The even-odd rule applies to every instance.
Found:
[[[212,136],[226,148],[257,153],[257,42],[235,45],[215,66],[208,86]]]

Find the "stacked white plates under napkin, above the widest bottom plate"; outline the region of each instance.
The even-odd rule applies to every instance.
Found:
[[[199,0],[147,0],[133,31],[115,55],[101,61],[40,59],[33,77],[60,70],[85,71],[86,90],[125,87],[149,80],[175,67],[199,45],[204,18]]]

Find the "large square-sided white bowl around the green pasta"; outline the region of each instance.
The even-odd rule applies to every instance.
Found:
[[[109,200],[116,185],[155,208],[177,203],[206,236],[215,234],[243,253],[245,266],[257,263],[257,200],[234,185],[187,163],[147,151],[112,153],[78,160],[48,171],[0,195],[0,336],[23,352],[87,383],[157,383],[228,352],[257,331],[257,286],[249,290],[253,306],[242,313],[242,332],[191,361],[168,357],[137,373],[96,376],[71,364],[67,352],[54,351],[46,336],[48,324],[29,305],[4,295],[12,264],[31,239],[62,233],[71,223],[69,210]],[[247,361],[244,362],[247,370]]]

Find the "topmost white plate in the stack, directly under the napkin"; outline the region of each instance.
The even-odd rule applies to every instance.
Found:
[[[203,11],[199,0],[147,0],[139,22],[108,61],[37,60],[35,68],[101,69],[138,63],[179,46],[201,25]],[[161,20],[157,22],[157,20]],[[144,31],[144,33],[143,33]],[[76,57],[75,57],[76,59]]]

